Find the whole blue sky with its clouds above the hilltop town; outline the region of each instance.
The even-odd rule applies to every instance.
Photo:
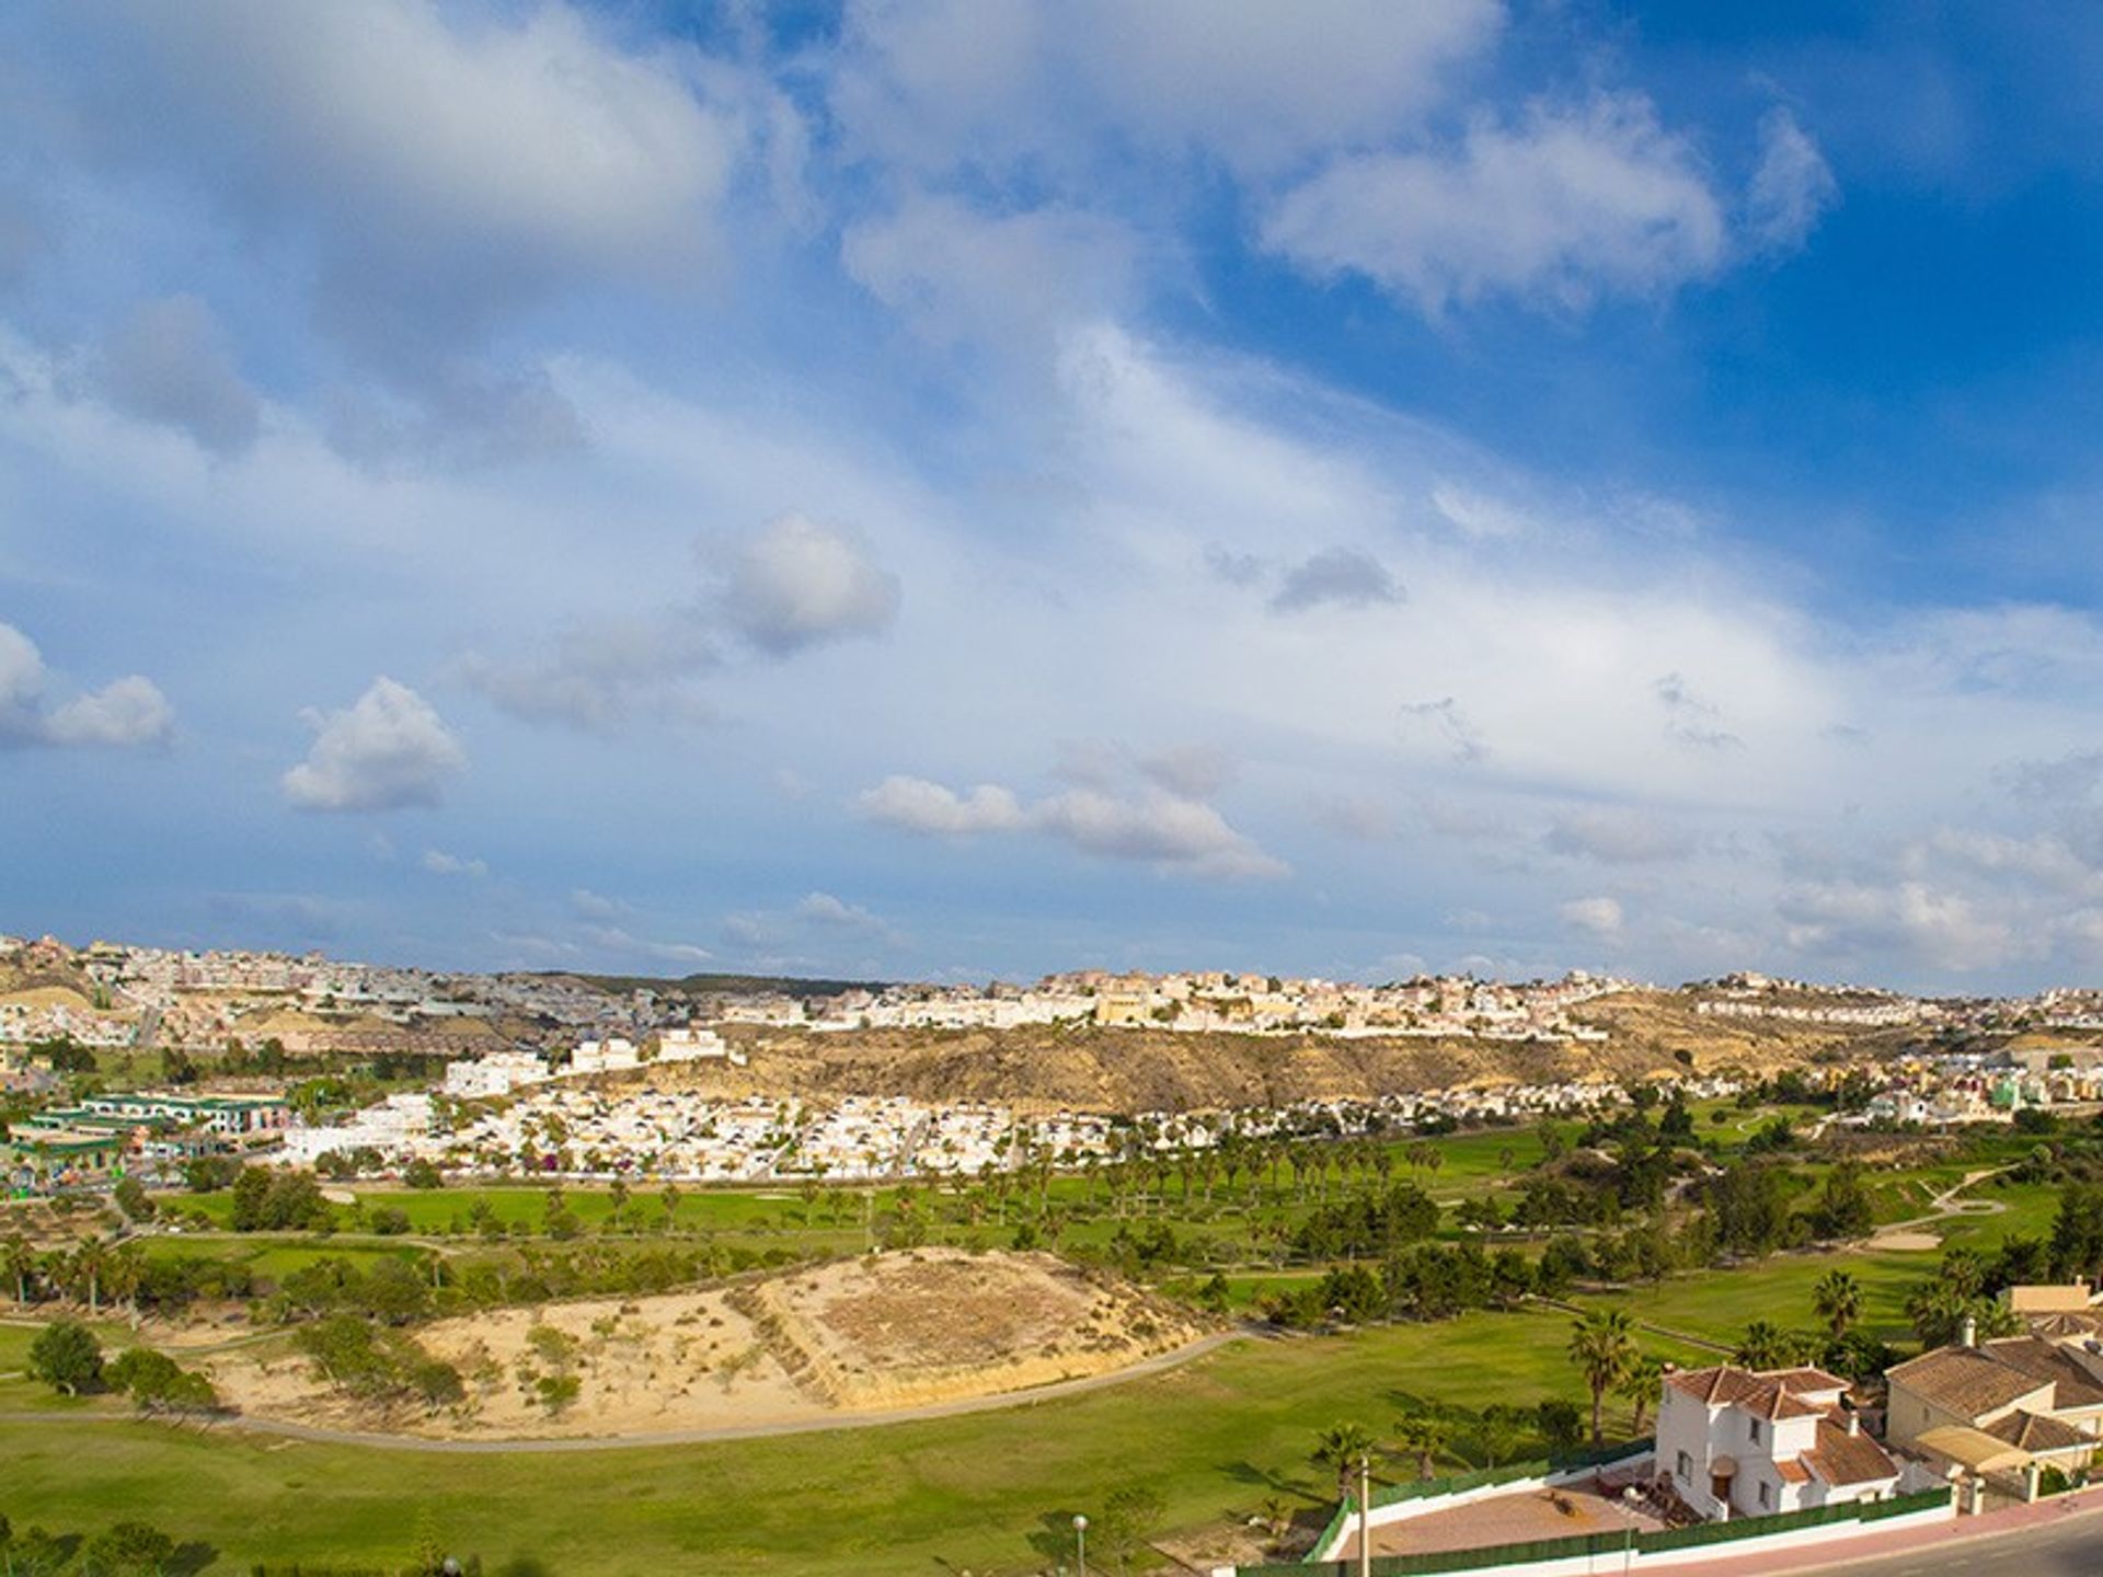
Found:
[[[2103,963],[2103,25],[0,17],[0,929]]]

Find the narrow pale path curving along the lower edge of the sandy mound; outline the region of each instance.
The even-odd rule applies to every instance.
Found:
[[[841,1413],[837,1417],[778,1419],[774,1424],[738,1424],[715,1430],[662,1430],[658,1434],[622,1436],[576,1436],[568,1440],[437,1440],[416,1434],[379,1434],[368,1430],[328,1430],[318,1424],[292,1424],[288,1419],[233,1415],[212,1419],[206,1428],[242,1430],[246,1434],[273,1434],[286,1440],[309,1440],[313,1445],[353,1445],[376,1451],[431,1451],[463,1457],[501,1457],[562,1451],[639,1451],[646,1447],[715,1445],[721,1440],[763,1440],[776,1434],[820,1434],[824,1430],[873,1430],[885,1424],[915,1424],[921,1419],[957,1417],[961,1413],[995,1413],[1009,1407],[1035,1407],[1060,1396],[1081,1396],[1091,1390],[1123,1386],[1127,1379],[1159,1375],[1180,1369],[1207,1352],[1218,1352],[1230,1342],[1253,1337],[1255,1331],[1220,1331],[1201,1337],[1173,1352],[1159,1352],[1152,1358],[1117,1369],[1106,1375],[1083,1379],[1062,1379],[1035,1390],[997,1392],[993,1396],[965,1396],[955,1402],[930,1402],[927,1407],[900,1407],[885,1413]],[[0,1424],[132,1424],[130,1413],[0,1413]]]

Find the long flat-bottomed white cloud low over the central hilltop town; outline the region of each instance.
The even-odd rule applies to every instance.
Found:
[[[1283,877],[1289,866],[1228,826],[1211,805],[1167,793],[1136,797],[1066,788],[1022,805],[1012,788],[980,784],[957,795],[925,778],[885,778],[856,801],[871,820],[908,833],[974,835],[1035,831],[1110,860],[1140,860],[1199,877]]]

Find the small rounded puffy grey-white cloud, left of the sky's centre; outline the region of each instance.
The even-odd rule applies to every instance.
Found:
[[[898,616],[898,576],[845,532],[782,515],[732,555],[723,612],[761,652],[787,656],[881,635]]]

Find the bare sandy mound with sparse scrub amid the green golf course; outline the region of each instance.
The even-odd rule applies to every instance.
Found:
[[[282,1346],[223,1348],[221,1392],[252,1419],[433,1440],[585,1440],[822,1428],[852,1415],[1108,1375],[1203,1327],[1049,1255],[890,1253],[662,1297],[440,1320],[416,1339],[467,1381],[458,1409],[343,1396]],[[576,1381],[549,1405],[549,1379]]]

